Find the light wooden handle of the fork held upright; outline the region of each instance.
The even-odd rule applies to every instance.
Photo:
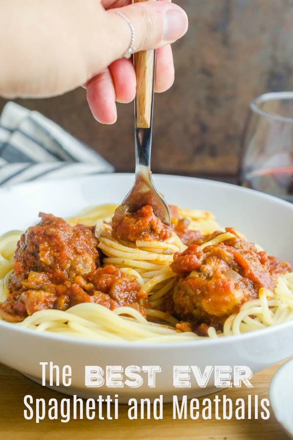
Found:
[[[156,0],[134,0],[134,3],[141,1]],[[137,127],[150,128],[153,82],[155,67],[155,51],[143,50],[134,54],[134,64],[136,73],[136,113]]]

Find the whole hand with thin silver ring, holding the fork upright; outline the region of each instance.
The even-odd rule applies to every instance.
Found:
[[[116,121],[115,100],[135,95],[135,72],[126,52],[131,30],[113,12],[132,22],[137,50],[158,48],[156,91],[173,83],[169,43],[187,30],[185,12],[169,0],[130,4],[130,0],[2,0],[0,15],[0,95],[48,97],[81,84],[93,115],[102,123]]]

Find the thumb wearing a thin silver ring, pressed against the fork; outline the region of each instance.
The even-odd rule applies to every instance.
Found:
[[[134,46],[136,51],[156,49],[173,43],[181,38],[188,29],[188,17],[185,11],[174,3],[165,1],[143,1],[117,8],[132,23],[135,30]],[[108,38],[105,51],[112,60],[121,58],[129,48],[132,32],[129,23],[108,10]]]

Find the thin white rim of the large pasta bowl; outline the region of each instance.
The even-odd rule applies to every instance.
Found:
[[[233,191],[237,191],[239,193],[243,193],[243,194],[252,194],[254,195],[254,197],[258,198],[258,199],[267,199],[268,201],[272,201],[275,204],[280,204],[283,206],[286,206],[287,208],[289,208],[291,211],[293,211],[293,204],[286,201],[286,200],[282,200],[280,198],[271,196],[269,194],[266,193],[261,193],[259,191],[253,190],[251,188],[244,188],[238,185],[234,185],[232,183],[227,183],[227,182],[221,182],[221,181],[217,181],[217,180],[212,180],[212,179],[204,179],[204,178],[199,178],[199,177],[191,177],[191,176],[180,176],[180,175],[168,175],[168,174],[153,174],[152,175],[154,177],[154,180],[159,177],[159,178],[163,178],[163,180],[167,180],[167,179],[176,179],[176,180],[189,180],[189,181],[197,181],[199,183],[202,183],[203,185],[208,185],[208,186],[220,186],[223,188],[230,188]],[[108,178],[108,177],[114,177],[116,179],[119,179],[121,177],[123,178],[129,178],[132,177],[134,178],[134,173],[101,173],[101,174],[96,174],[96,175],[90,175],[90,176],[77,176],[77,177],[71,177],[71,178],[65,178],[65,179],[54,179],[52,181],[50,180],[43,180],[42,182],[39,181],[30,181],[30,182],[24,182],[24,183],[20,183],[17,185],[11,185],[11,186],[7,186],[7,187],[0,187],[0,197],[1,194],[5,194],[7,192],[13,191],[14,189],[18,189],[18,188],[34,188],[35,186],[40,186],[41,184],[52,184],[52,183],[65,183],[65,184],[70,184],[71,182],[83,182],[86,180],[95,180],[95,179],[103,179],[103,178]],[[156,181],[155,181],[156,183]],[[252,192],[252,193],[251,193]],[[143,342],[143,340],[139,340],[139,341],[99,341],[99,340],[92,340],[92,339],[86,339],[86,338],[75,338],[75,337],[69,337],[69,336],[64,336],[64,335],[58,335],[55,333],[46,333],[46,332],[38,332],[36,330],[32,330],[32,329],[26,329],[26,328],[21,328],[17,325],[15,325],[14,323],[9,323],[6,321],[2,321],[0,320],[0,331],[3,328],[6,330],[12,330],[12,331],[19,331],[21,333],[24,334],[30,334],[30,335],[35,335],[36,337],[41,337],[41,338],[46,338],[46,339],[51,339],[51,340],[58,340],[58,341],[63,341],[66,343],[70,343],[70,344],[87,344],[89,346],[94,346],[94,347],[105,347],[105,346],[111,346],[114,348],[125,348],[125,347],[131,347],[131,348],[152,348],[152,349],[157,349],[157,350],[161,350],[161,349],[166,349],[166,348],[170,348],[170,347],[175,347],[178,348],[179,346],[184,346],[184,347],[197,347],[197,346],[201,346],[203,344],[208,344],[209,346],[212,346],[213,344],[216,344],[216,346],[223,345],[226,343],[230,343],[230,341],[234,341],[234,342],[246,342],[248,340],[250,340],[251,338],[253,338],[253,336],[256,334],[263,334],[263,336],[269,336],[271,333],[275,333],[276,330],[282,331],[283,329],[287,329],[287,328],[291,328],[293,327],[293,320],[292,321],[288,321],[282,324],[278,324],[275,326],[271,326],[271,327],[267,327],[266,329],[260,329],[260,330],[254,330],[251,332],[246,332],[246,333],[241,333],[238,335],[229,335],[229,336],[223,336],[223,337],[219,337],[219,338],[205,338],[205,339],[197,339],[194,341],[176,341],[176,342],[160,342],[160,343],[155,343],[155,342]]]

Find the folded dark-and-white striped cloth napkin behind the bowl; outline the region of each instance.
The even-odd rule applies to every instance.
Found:
[[[0,185],[114,171],[38,111],[8,102],[0,116]]]

